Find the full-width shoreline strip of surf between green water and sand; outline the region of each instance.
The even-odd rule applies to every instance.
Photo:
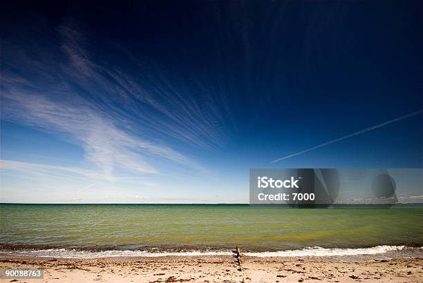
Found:
[[[421,246],[371,246],[367,248],[323,248],[319,246],[289,249],[282,251],[249,251],[241,248],[247,257],[423,257]],[[35,257],[35,258],[73,258],[91,259],[103,257],[195,257],[195,256],[228,256],[232,250],[210,249],[173,249],[160,250],[93,250],[83,248],[22,248],[21,246],[0,245],[1,257]]]

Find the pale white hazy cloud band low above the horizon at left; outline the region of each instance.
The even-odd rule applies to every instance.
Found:
[[[109,194],[128,202],[134,192],[146,195],[156,182],[145,177],[110,177],[99,170],[0,160],[1,202],[103,202]],[[19,184],[14,184],[19,179]],[[15,180],[15,181],[11,181]],[[111,182],[113,181],[113,182]]]

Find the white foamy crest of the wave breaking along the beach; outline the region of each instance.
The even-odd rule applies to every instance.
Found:
[[[321,248],[314,246],[298,250],[272,252],[245,252],[248,257],[328,257],[346,255],[376,255],[391,251],[402,251],[405,246],[373,246],[370,248]],[[78,251],[66,248],[24,249],[0,251],[0,255],[23,257],[59,257],[59,258],[100,258],[100,257],[167,257],[167,256],[220,256],[232,255],[232,251],[183,251],[183,252],[151,252],[151,251]]]

